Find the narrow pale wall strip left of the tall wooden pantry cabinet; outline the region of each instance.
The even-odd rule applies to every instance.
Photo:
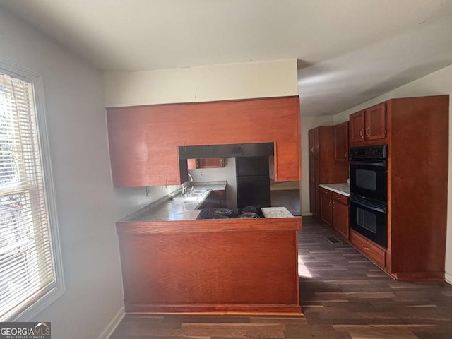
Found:
[[[303,102],[302,102],[303,107]],[[333,116],[303,117],[302,115],[302,182],[300,183],[300,215],[311,215],[309,211],[309,139],[308,131],[318,126],[333,125]]]

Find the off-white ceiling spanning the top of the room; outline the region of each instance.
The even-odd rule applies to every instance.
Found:
[[[452,64],[452,0],[0,0],[102,71],[298,59],[305,117]]]

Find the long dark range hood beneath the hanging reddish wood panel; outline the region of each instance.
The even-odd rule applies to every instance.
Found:
[[[179,146],[180,160],[213,157],[270,157],[273,155],[275,155],[274,143]]]

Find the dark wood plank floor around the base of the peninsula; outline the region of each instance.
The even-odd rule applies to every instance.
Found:
[[[395,281],[313,218],[303,227],[304,316],[126,315],[111,338],[452,338],[451,285]]]

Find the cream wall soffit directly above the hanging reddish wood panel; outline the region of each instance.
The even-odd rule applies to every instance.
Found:
[[[104,74],[105,106],[204,102],[297,93],[297,60]]]

